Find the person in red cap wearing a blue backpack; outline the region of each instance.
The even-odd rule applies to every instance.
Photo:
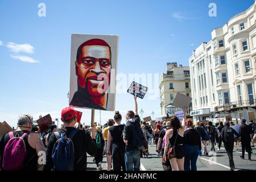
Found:
[[[43,170],[86,170],[86,153],[92,156],[96,154],[96,126],[90,128],[90,134],[85,130],[77,130],[76,111],[71,106],[61,110],[61,121],[64,128],[49,137]]]

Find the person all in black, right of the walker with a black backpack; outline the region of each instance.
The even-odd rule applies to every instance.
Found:
[[[241,144],[242,144],[242,155],[241,159],[245,159],[245,150],[248,152],[248,158],[251,160],[251,127],[246,125],[246,120],[241,120],[242,126],[240,126],[239,134],[241,135]]]

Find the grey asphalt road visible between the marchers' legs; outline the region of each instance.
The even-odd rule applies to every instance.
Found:
[[[208,151],[210,151],[210,146]],[[142,171],[163,171],[162,162],[160,156],[156,155],[155,144],[149,147],[148,157],[141,158],[141,170]],[[203,147],[202,147],[203,148]],[[209,153],[210,154],[210,153]],[[253,148],[253,154],[251,155],[251,161],[247,160],[248,156],[245,154],[245,160],[240,159],[241,147],[238,147],[237,151],[233,152],[234,164],[236,170],[256,170],[256,147]],[[97,170],[96,164],[93,162],[92,156],[88,156],[87,170]],[[106,156],[102,161],[102,170],[106,170]],[[212,153],[212,156],[201,155],[197,159],[198,171],[229,171],[229,159],[225,152],[225,148],[222,146],[220,151]]]

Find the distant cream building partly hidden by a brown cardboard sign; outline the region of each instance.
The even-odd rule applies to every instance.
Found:
[[[174,114],[175,111],[181,110],[173,106],[172,102],[178,92],[191,97],[191,85],[189,67],[183,67],[177,63],[167,63],[167,72],[160,77],[160,107],[162,117],[168,114]],[[188,116],[192,109],[189,107]]]

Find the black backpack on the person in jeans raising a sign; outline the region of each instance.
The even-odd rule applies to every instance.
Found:
[[[134,148],[141,149],[142,146],[146,146],[146,140],[144,139],[141,126],[136,121],[130,121],[129,124],[133,127],[132,145]]]

